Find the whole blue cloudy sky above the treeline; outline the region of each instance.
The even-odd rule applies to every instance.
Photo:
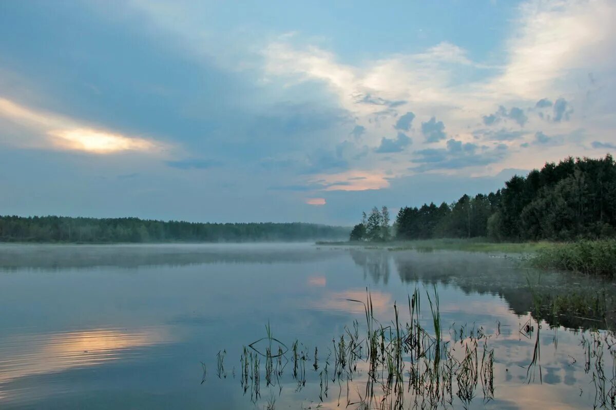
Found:
[[[616,151],[613,0],[0,2],[0,215],[350,225]]]

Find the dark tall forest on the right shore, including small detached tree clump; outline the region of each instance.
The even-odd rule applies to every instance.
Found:
[[[616,235],[616,164],[568,157],[526,176],[513,176],[489,194],[453,203],[403,207],[389,230],[387,208],[373,208],[351,240],[487,237],[500,241],[569,241]]]

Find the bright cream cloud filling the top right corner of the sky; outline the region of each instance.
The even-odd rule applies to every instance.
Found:
[[[614,49],[614,2],[525,1],[517,11],[507,64],[487,86],[495,95],[541,98],[578,69],[614,61],[606,57]]]

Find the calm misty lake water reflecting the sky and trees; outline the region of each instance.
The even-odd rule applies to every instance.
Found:
[[[344,408],[365,390],[362,366],[348,382],[330,376],[326,396],[320,374],[328,355],[334,361],[332,339],[354,320],[365,328],[363,305],[347,299],[365,301],[370,288],[374,315],[387,325],[394,301],[408,320],[408,294],[418,288],[421,323],[434,329],[426,307],[433,286],[450,347],[462,350],[480,330],[488,336],[479,360],[484,342],[494,352],[493,398],[484,398],[479,377],[469,407],[577,409],[609,398],[614,349],[606,340],[614,339],[602,329],[612,316],[596,301],[613,300],[615,286],[538,275],[503,255],[308,244],[2,245],[0,408],[243,409],[265,408],[272,397],[275,408]],[[535,309],[538,294],[571,304],[594,298],[599,313]],[[538,323],[529,322],[533,309]],[[243,346],[267,336],[267,323],[276,339],[288,347],[297,339],[309,352],[306,381],[298,384],[287,363],[275,385],[261,373],[254,400],[241,386],[240,358]],[[455,392],[453,407],[461,408]]]

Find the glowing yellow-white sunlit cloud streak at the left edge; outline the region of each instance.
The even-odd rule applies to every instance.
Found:
[[[33,133],[34,141],[27,144],[25,141],[7,141],[27,148],[34,146],[94,154],[121,151],[160,153],[168,148],[158,141],[92,128],[76,120],[28,108],[6,98],[0,98],[0,117]]]

